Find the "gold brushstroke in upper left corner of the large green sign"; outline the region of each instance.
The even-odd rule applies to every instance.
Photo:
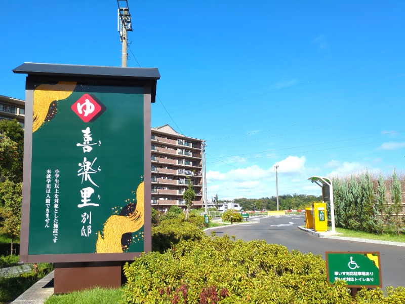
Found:
[[[69,97],[75,87],[75,82],[60,81],[56,85],[44,84],[35,88],[32,133],[56,115],[57,101]]]

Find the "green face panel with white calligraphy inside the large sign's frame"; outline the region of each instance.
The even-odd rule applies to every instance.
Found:
[[[143,88],[36,83],[33,117],[28,254],[143,251]]]

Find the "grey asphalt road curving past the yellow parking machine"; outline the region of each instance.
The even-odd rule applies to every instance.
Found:
[[[214,230],[217,236],[228,234],[245,241],[266,240],[268,244],[284,245],[290,251],[320,254],[323,259],[326,251],[379,251],[383,288],[405,286],[405,247],[319,238],[298,229],[301,225],[305,225],[301,215],[271,216]]]

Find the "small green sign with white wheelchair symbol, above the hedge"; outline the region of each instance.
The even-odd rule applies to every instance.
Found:
[[[382,287],[379,252],[326,252],[330,283],[339,280],[348,287]]]

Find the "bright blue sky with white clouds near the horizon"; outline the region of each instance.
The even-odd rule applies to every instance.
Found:
[[[129,0],[152,126],[207,142],[208,197],[320,194],[307,178],[405,165],[405,2]],[[5,2],[0,95],[23,62],[119,66],[117,4]],[[138,65],[139,63],[139,65]]]

